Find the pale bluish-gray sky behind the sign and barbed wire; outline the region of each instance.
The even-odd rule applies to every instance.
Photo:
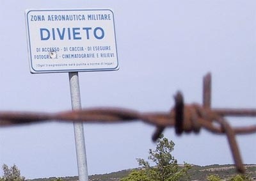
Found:
[[[256,108],[256,1],[1,1],[1,111],[71,109],[68,73],[30,74],[24,12],[30,8],[111,8],[120,70],[81,72],[82,107],[169,111],[173,95],[202,102],[202,77],[212,73],[212,107]],[[232,125],[255,119],[229,118]],[[147,158],[154,127],[85,124],[88,172],[109,173]],[[190,164],[232,164],[225,136],[202,130],[175,136],[174,157]],[[244,163],[256,163],[255,134],[237,136]],[[0,164],[26,178],[77,175],[72,123],[0,128]]]

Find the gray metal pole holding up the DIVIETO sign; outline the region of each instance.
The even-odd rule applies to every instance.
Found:
[[[81,109],[81,96],[78,72],[69,72],[70,94],[72,110]],[[88,181],[88,168],[84,141],[83,123],[74,123],[76,157],[79,181]]]

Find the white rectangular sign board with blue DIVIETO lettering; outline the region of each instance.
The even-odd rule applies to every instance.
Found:
[[[111,10],[26,10],[31,73],[118,70]]]

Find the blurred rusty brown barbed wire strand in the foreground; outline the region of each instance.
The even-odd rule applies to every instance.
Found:
[[[236,134],[252,134],[256,125],[231,127],[225,116],[256,116],[256,109],[212,109],[211,74],[204,77],[203,105],[184,104],[180,91],[174,96],[175,106],[169,113],[140,113],[132,109],[98,107],[60,113],[29,113],[0,111],[0,127],[24,125],[39,122],[83,122],[83,123],[124,123],[142,121],[156,126],[152,139],[159,138],[166,127],[174,127],[177,135],[183,132],[200,132],[204,128],[214,134],[226,134],[236,169],[244,173],[245,169]]]

